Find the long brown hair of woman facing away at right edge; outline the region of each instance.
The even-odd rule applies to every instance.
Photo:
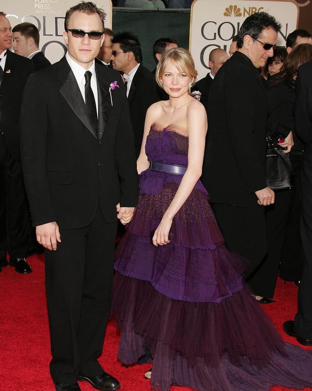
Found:
[[[278,83],[282,80],[290,80],[294,82],[294,79],[297,76],[298,68],[300,65],[308,63],[312,60],[312,45],[310,43],[301,43],[293,48],[293,50],[288,54],[283,63],[282,69],[274,77],[273,83]]]

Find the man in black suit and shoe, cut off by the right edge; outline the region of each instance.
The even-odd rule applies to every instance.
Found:
[[[312,346],[312,61],[303,64],[296,78],[294,104],[296,134],[304,143],[301,162],[300,237],[303,270],[294,321],[286,321],[285,332],[305,346]]]

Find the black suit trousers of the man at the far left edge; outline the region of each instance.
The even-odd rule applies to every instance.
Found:
[[[0,131],[0,258],[26,258],[31,226],[21,162],[12,158]]]

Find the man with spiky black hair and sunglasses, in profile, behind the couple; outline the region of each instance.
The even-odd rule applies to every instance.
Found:
[[[132,128],[135,139],[135,154],[141,150],[146,111],[161,100],[154,76],[142,63],[142,50],[137,36],[123,31],[114,36],[112,65],[124,72],[125,88],[129,101]]]

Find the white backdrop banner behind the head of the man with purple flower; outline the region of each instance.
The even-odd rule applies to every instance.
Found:
[[[40,32],[40,48],[55,63],[67,49],[64,44],[64,19],[67,9],[79,0],[23,0],[7,2],[1,11],[7,14],[12,28],[23,22],[33,23]],[[106,12],[105,27],[112,27],[112,1],[100,0],[97,6]]]

